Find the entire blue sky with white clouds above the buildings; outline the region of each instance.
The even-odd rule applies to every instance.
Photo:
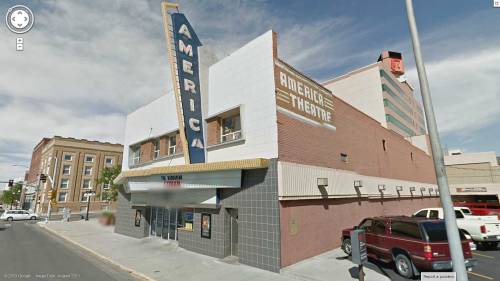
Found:
[[[417,88],[404,1],[179,1],[205,46],[224,57],[269,29],[279,56],[318,81],[403,53]],[[500,9],[493,0],[416,0],[443,144],[500,154]],[[0,180],[21,176],[44,136],[121,142],[127,113],[171,88],[160,1],[26,4],[34,28],[15,51],[0,25]]]

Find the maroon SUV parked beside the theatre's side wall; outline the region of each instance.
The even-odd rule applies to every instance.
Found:
[[[421,271],[452,269],[450,249],[444,221],[416,217],[375,217],[364,219],[357,228],[366,231],[368,257],[394,262],[398,273],[412,278]],[[342,231],[342,249],[351,254],[350,231]],[[462,249],[465,266],[476,265],[470,243],[463,233]]]

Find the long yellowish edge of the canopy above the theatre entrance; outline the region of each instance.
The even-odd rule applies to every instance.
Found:
[[[122,171],[114,180],[115,184],[125,184],[127,179],[134,177],[148,177],[155,175],[168,174],[187,174],[198,172],[213,172],[224,170],[252,170],[262,169],[269,166],[269,159],[255,158],[233,161],[221,161],[210,163],[198,163],[176,166],[162,166],[152,168],[137,168],[133,170]]]

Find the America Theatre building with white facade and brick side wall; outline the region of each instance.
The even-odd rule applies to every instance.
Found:
[[[170,24],[173,50],[198,40]],[[116,232],[279,272],[364,217],[439,204],[428,153],[280,59],[274,32],[213,63],[182,48],[199,64],[170,54],[174,93],[127,117]]]

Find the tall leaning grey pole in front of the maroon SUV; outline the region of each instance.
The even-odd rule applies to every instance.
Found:
[[[408,15],[408,25],[410,27],[415,63],[420,82],[420,91],[422,92],[425,119],[427,120],[427,127],[429,129],[429,138],[431,142],[434,167],[436,169],[439,197],[441,199],[441,205],[443,205],[444,221],[446,225],[446,233],[448,235],[451,260],[453,262],[453,271],[456,272],[457,280],[467,281],[469,279],[467,276],[467,270],[465,269],[462,243],[460,241],[457,219],[455,217],[455,211],[451,201],[450,189],[448,187],[448,179],[446,178],[446,170],[444,166],[443,150],[441,149],[441,142],[439,140],[436,117],[434,116],[429,83],[427,81],[427,74],[425,72],[422,53],[420,50],[420,40],[418,37],[417,24],[415,22],[415,14],[413,12],[413,0],[406,0],[406,12]]]

